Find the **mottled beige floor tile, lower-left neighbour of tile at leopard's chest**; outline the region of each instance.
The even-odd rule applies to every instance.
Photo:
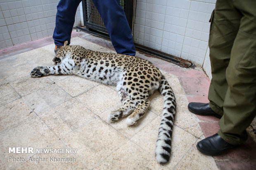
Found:
[[[22,97],[26,104],[34,109],[36,114],[46,112],[71,98],[71,95],[63,91],[56,84],[51,84]]]

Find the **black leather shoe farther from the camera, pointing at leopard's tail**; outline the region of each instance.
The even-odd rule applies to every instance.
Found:
[[[211,109],[209,103],[191,102],[188,104],[187,108],[190,112],[201,116],[215,116],[219,119],[222,117]]]

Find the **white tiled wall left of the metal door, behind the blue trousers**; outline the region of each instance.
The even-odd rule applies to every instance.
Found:
[[[59,0],[0,0],[0,49],[52,36]],[[75,25],[81,24],[80,7]]]

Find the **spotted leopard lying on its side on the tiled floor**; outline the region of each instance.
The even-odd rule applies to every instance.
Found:
[[[156,160],[169,161],[176,102],[164,75],[147,60],[123,54],[103,53],[78,45],[64,45],[56,53],[55,66],[38,66],[31,77],[47,75],[78,75],[103,84],[116,85],[123,106],[111,112],[108,120],[125,116],[126,124],[135,124],[149,107],[149,94],[159,89],[164,97],[164,109],[156,141]]]

